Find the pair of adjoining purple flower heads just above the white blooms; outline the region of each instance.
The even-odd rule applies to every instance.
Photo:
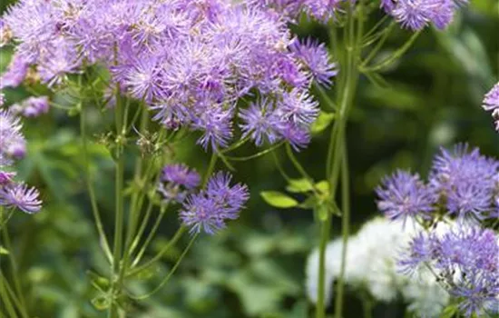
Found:
[[[445,211],[461,221],[497,217],[499,162],[457,144],[452,152],[435,155],[427,184],[405,172],[384,179],[377,188],[378,208],[390,219],[432,218]]]

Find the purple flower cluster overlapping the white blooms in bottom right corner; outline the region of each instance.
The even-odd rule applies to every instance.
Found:
[[[492,230],[457,226],[419,234],[399,263],[408,273],[429,266],[466,317],[499,312],[499,245]]]

